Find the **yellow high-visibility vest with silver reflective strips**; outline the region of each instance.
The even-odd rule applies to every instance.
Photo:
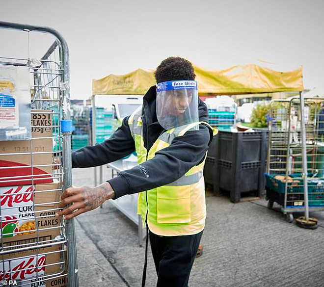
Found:
[[[153,158],[156,152],[168,147],[175,137],[183,136],[188,130],[202,123],[216,135],[218,130],[205,122],[173,128],[164,131],[147,154],[143,141],[141,107],[139,107],[128,120],[135,141],[138,164]],[[204,229],[206,219],[204,164],[205,160],[190,168],[185,175],[173,183],[139,193],[137,214],[142,216],[143,223],[147,214],[147,223],[151,232],[156,235],[177,236],[197,234]]]

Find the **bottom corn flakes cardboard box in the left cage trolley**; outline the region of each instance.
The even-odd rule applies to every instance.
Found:
[[[66,274],[66,264],[64,264],[65,266],[58,264],[64,259],[66,260],[66,252],[60,251],[60,247],[61,245],[53,245],[45,250],[38,250],[38,252],[29,250],[23,255],[6,258],[3,264],[0,264],[0,284],[3,283],[3,280],[6,280],[7,285],[9,285],[9,280],[11,280],[11,286],[24,284],[26,287],[67,287],[66,276],[51,279],[51,277],[59,276],[58,274]],[[36,256],[37,254],[38,256]],[[48,264],[53,265],[46,266]],[[41,281],[46,278],[48,280]]]

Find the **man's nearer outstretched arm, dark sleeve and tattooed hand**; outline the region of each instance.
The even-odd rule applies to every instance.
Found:
[[[202,162],[212,137],[207,126],[199,125],[199,130],[188,131],[185,135],[174,138],[171,145],[157,152],[154,158],[119,173],[107,183],[93,188],[81,186],[66,189],[59,207],[71,203],[73,205],[57,212],[55,216],[64,215],[66,219],[70,219],[97,208],[108,199],[176,181],[191,167]]]

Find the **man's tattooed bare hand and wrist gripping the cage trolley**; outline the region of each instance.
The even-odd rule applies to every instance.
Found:
[[[103,183],[96,187],[80,186],[67,188],[61,195],[59,208],[73,203],[71,206],[56,212],[55,217],[64,216],[71,219],[77,215],[96,209],[106,200],[113,198],[115,192],[109,183]]]

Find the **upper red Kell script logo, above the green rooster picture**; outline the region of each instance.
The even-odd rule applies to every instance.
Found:
[[[33,201],[33,187],[28,186],[26,190],[20,192],[24,186],[15,186],[3,192],[0,196],[1,207],[13,207],[13,204],[28,203]],[[16,189],[15,189],[16,188]]]

